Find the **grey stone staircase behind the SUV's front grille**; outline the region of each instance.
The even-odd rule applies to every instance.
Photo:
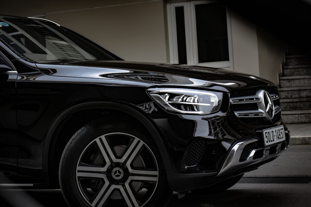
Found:
[[[279,79],[284,123],[311,123],[311,56],[289,48]]]

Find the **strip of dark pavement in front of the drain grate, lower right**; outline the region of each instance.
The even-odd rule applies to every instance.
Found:
[[[236,184],[223,193],[173,195],[168,207],[310,207],[311,184]]]

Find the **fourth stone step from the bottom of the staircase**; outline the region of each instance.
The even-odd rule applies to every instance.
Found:
[[[311,86],[311,75],[280,77],[280,87]]]

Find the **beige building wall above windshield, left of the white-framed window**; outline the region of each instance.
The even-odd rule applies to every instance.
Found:
[[[163,0],[17,0],[15,8],[6,4],[0,13],[43,14],[125,60],[167,62]]]

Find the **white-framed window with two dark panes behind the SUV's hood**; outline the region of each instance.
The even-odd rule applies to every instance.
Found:
[[[172,63],[233,69],[229,13],[215,1],[169,4]]]

